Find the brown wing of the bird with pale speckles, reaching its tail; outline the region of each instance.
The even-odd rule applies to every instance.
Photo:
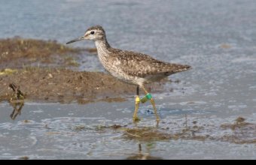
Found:
[[[148,55],[139,52],[119,51],[114,53],[120,64],[119,68],[126,74],[133,77],[151,77],[154,75],[169,76],[181,71],[190,69],[188,65],[169,64],[161,62],[157,59],[151,58]]]

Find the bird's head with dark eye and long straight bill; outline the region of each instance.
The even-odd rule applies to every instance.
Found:
[[[70,40],[67,42],[69,43],[74,43],[79,40],[103,40],[105,38],[105,31],[102,28],[102,26],[92,26],[85,31],[84,35],[81,37],[76,38],[75,40]]]

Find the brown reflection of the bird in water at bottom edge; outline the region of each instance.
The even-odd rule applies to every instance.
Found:
[[[138,154],[133,154],[133,156],[127,157],[127,160],[163,160],[162,157],[153,157],[150,155],[150,147],[146,147],[147,151],[142,151],[142,144],[139,144]]]

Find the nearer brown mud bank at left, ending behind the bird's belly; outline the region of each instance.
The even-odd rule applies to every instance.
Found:
[[[11,98],[9,83],[20,86],[29,101],[85,103],[97,99],[120,98],[132,95],[135,86],[122,83],[108,74],[78,72],[68,69],[29,68],[0,77],[2,101]]]

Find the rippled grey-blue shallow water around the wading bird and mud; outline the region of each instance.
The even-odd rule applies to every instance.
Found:
[[[0,1],[2,38],[19,35],[66,43],[99,24],[114,47],[191,65],[193,70],[169,77],[180,83],[167,84],[166,92],[154,94],[162,118],[159,129],[172,134],[182,131],[184,123],[193,127],[197,121],[197,127],[203,128],[196,133],[206,137],[144,142],[124,138],[123,130],[100,129],[113,124],[135,127],[130,99],[86,105],[27,102],[14,121],[10,118],[13,107],[2,103],[0,159],[125,159],[138,155],[255,159],[255,143],[251,142],[256,139],[255,11],[253,0]],[[93,43],[72,46],[92,47]],[[81,64],[81,70],[103,71],[96,56],[84,54]],[[171,88],[173,92],[169,92]],[[138,127],[155,125],[149,104],[140,107],[139,116]],[[233,124],[239,116],[251,124],[235,130],[221,127]],[[224,140],[226,136],[238,136],[244,142]]]

